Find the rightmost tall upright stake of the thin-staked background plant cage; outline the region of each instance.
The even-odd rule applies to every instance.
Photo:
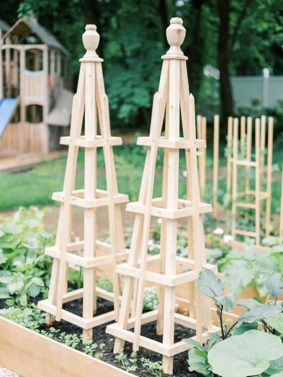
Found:
[[[272,155],[273,155],[273,118],[268,118],[268,146],[267,146],[267,198],[265,213],[265,236],[270,236],[271,216],[271,185],[272,185]]]

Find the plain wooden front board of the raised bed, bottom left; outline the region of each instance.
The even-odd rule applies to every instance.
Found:
[[[0,365],[20,376],[134,376],[4,318],[0,343]]]

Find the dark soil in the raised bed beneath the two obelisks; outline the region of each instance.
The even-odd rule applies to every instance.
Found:
[[[0,300],[0,309],[6,307],[4,304],[5,300]],[[103,314],[113,310],[112,303],[109,303],[105,300],[99,300],[97,303],[97,315]],[[82,315],[82,300],[76,300],[69,303],[64,304],[64,309],[70,311],[71,313]],[[110,322],[109,322],[110,323]],[[64,320],[60,322],[54,322],[53,327],[59,329],[61,331],[65,331],[66,333],[77,334],[78,336],[82,334],[82,329],[69,323]],[[44,329],[48,331],[47,325],[42,325],[40,329]],[[102,358],[103,361],[106,363],[112,364],[118,368],[120,368],[120,364],[115,360],[115,355],[113,354],[113,346],[114,346],[114,337],[112,335],[105,333],[106,324],[94,327],[93,329],[93,341],[95,343],[104,343],[105,344],[105,353],[104,357]],[[162,336],[156,335],[156,321],[146,323],[141,326],[141,334],[148,338],[161,341]],[[183,338],[189,338],[195,335],[195,331],[192,329],[188,329],[181,325],[175,324],[175,342],[182,340]],[[82,351],[80,347],[77,348],[79,351]],[[124,353],[130,355],[132,352],[132,344],[126,342]],[[142,357],[150,359],[152,362],[162,360],[161,356],[155,352],[149,351],[145,348],[140,348],[138,352],[138,359]],[[179,355],[174,357],[174,375],[173,377],[200,377],[201,375],[195,372],[188,371],[188,352],[182,352]],[[136,376],[140,377],[150,377],[148,372],[141,371],[141,363],[138,360],[139,370],[133,373]],[[169,376],[163,374],[162,376]]]

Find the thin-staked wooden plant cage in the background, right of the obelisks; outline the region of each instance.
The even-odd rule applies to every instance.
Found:
[[[247,122],[246,122],[247,121]],[[253,120],[248,117],[240,119],[240,140],[238,118],[228,119],[228,156],[227,156],[227,193],[232,188],[231,234],[255,238],[255,243],[260,246],[261,241],[261,213],[263,201],[265,205],[265,235],[270,235],[271,217],[271,184],[272,184],[272,154],[273,154],[273,118],[268,118],[268,137],[266,144],[266,116],[255,120],[255,158],[252,158]],[[241,146],[239,153],[239,144]],[[231,152],[232,150],[232,152]],[[265,152],[267,150],[267,161]],[[267,162],[265,164],[265,162]],[[238,167],[245,169],[244,188],[238,191]],[[250,173],[255,169],[255,185],[251,188]],[[266,188],[262,179],[266,174]],[[236,218],[238,208],[248,208],[255,211],[255,230],[247,231],[237,229]]]

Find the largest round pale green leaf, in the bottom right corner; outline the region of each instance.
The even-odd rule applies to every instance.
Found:
[[[280,358],[283,344],[279,337],[259,330],[231,336],[208,353],[213,373],[221,377],[257,376]]]

